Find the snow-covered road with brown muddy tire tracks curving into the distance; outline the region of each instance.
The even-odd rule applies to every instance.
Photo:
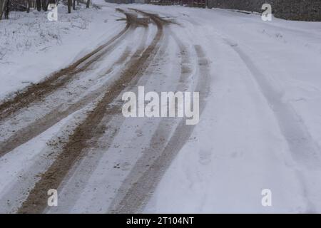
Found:
[[[321,23],[96,4],[108,36],[0,105],[0,212],[321,212]],[[200,122],[124,118],[138,86],[200,92]]]

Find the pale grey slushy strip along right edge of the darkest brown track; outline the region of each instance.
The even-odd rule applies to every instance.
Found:
[[[144,71],[142,77],[134,78],[133,81],[131,81],[131,85],[126,88],[127,91],[135,90],[138,83],[140,86],[143,84],[146,85],[148,79],[151,78],[153,74],[152,72],[157,71],[154,63],[158,63],[158,61],[161,61],[164,57],[164,49],[167,48],[167,45],[165,44],[168,41],[167,38],[168,36],[165,36],[164,34],[161,38],[161,42],[159,42],[161,43],[161,46],[156,46],[145,64],[146,67],[143,67]],[[116,103],[116,105],[119,106],[117,110],[121,110],[123,100],[121,100],[120,97],[119,102],[117,98],[113,103]],[[61,183],[61,190],[58,190],[58,197],[61,203],[58,204],[58,207],[47,207],[44,211],[45,213],[73,213],[75,212],[75,209],[78,208],[77,205],[79,204],[79,200],[83,203],[86,203],[87,200],[90,201],[90,199],[86,199],[86,197],[85,199],[82,199],[83,197],[79,199],[79,196],[83,196],[82,193],[83,191],[86,191],[88,182],[90,181],[91,176],[95,175],[96,168],[99,166],[101,160],[104,159],[106,154],[110,154],[113,142],[120,133],[123,133],[123,123],[125,121],[126,118],[123,117],[121,111],[103,118],[100,124],[101,126],[98,128],[107,129],[106,133],[92,139],[92,141],[95,142],[95,145],[92,145],[91,148],[88,149],[88,155],[90,154],[90,156],[83,157],[79,162],[73,165],[72,170],[68,172],[63,183]],[[106,175],[108,175],[108,173],[106,173]],[[110,173],[110,175],[112,174]],[[101,180],[101,185],[103,185],[103,180]],[[73,192],[73,195],[68,194],[68,192]],[[95,204],[95,202],[93,202],[93,204]],[[108,202],[106,202],[106,204],[108,204]],[[86,208],[86,206],[84,206],[84,208]],[[93,212],[95,211],[96,210],[93,210]],[[81,212],[85,212],[85,210],[81,210]],[[96,212],[98,212],[98,210]],[[78,213],[77,210],[76,213]]]

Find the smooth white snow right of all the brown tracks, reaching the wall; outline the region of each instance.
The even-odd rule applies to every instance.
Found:
[[[213,77],[200,123],[145,212],[321,212],[321,23],[136,7],[189,28]]]

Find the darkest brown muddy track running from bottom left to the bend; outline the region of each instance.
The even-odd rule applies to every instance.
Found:
[[[130,85],[131,81],[140,76],[143,66],[148,61],[151,53],[158,46],[163,34],[163,23],[160,20],[151,18],[157,25],[158,31],[153,38],[152,43],[143,50],[134,53],[131,61],[121,76],[113,85],[108,88],[103,98],[98,102],[96,107],[88,113],[86,119],[78,125],[76,130],[69,136],[68,142],[64,145],[62,152],[58,155],[54,163],[41,176],[39,182],[36,182],[34,188],[29,192],[29,196],[23,202],[18,213],[41,213],[46,208],[47,191],[49,189],[58,189],[62,180],[68,174],[76,160],[86,155],[86,148],[91,147],[92,138],[102,135],[106,128],[98,128],[106,115],[113,115],[121,110],[111,105],[121,92]]]

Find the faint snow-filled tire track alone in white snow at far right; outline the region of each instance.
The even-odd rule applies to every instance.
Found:
[[[275,115],[277,123],[280,126],[280,131],[295,161],[308,169],[318,169],[321,162],[320,147],[313,140],[302,119],[292,108],[292,105],[282,101],[282,93],[273,88],[267,77],[255,66],[255,63],[238,45],[235,45],[235,43],[227,38],[224,38],[224,41],[233,48],[235,53],[238,53],[238,56],[240,56],[240,59],[245,63],[245,66],[247,66],[255,82],[258,84],[263,96],[270,105],[272,113]],[[302,187],[302,196],[305,197],[307,213],[315,212],[315,204],[310,197],[302,170],[299,170],[297,167],[294,167],[294,170],[297,180],[299,180]]]

